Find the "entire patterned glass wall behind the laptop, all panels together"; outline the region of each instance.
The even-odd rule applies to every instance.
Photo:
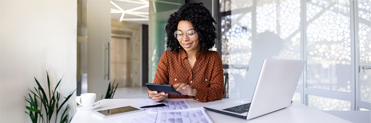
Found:
[[[263,59],[305,59],[293,100],[320,110],[370,109],[370,1],[220,0],[219,5],[227,97],[252,97]]]

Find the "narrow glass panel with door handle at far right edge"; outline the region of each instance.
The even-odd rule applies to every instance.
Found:
[[[371,1],[358,0],[355,4],[357,17],[357,41],[359,52],[358,107],[370,109],[371,102]]]

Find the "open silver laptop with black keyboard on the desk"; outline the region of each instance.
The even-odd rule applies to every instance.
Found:
[[[204,108],[250,120],[288,107],[304,64],[305,60],[265,59],[252,99],[244,98]]]

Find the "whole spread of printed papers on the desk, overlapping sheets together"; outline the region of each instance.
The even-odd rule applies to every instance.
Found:
[[[166,106],[145,108],[149,111],[137,116],[116,119],[120,123],[213,123],[203,107],[191,108],[185,100],[155,102],[141,100],[133,106],[142,107],[164,103]]]

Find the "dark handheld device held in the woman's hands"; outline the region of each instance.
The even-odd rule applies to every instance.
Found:
[[[166,92],[171,95],[181,95],[181,93],[177,92],[173,85],[167,85],[167,84],[155,84],[155,83],[145,83],[148,90],[151,91],[158,91],[158,92]]]

